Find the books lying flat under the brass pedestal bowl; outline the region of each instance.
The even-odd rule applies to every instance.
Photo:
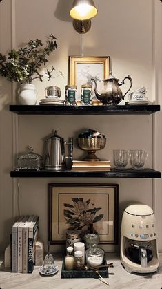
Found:
[[[110,171],[110,160],[89,162],[85,160],[73,160],[72,171]]]

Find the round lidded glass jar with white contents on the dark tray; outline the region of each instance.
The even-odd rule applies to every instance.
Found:
[[[89,248],[85,251],[86,255],[86,263],[90,267],[97,267],[99,265],[102,265],[103,263],[103,257],[104,257],[104,251],[101,248]]]

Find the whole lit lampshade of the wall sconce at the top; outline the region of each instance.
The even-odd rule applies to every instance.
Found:
[[[74,0],[70,16],[77,20],[88,20],[97,15],[93,0]]]

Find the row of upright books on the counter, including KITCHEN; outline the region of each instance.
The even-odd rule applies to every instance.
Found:
[[[12,272],[32,273],[34,245],[39,230],[39,216],[21,216],[12,225],[11,267]]]

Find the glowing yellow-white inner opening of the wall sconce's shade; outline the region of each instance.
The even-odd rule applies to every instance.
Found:
[[[87,3],[79,4],[72,8],[70,11],[70,16],[77,20],[90,19],[97,15],[97,8],[88,5]]]

